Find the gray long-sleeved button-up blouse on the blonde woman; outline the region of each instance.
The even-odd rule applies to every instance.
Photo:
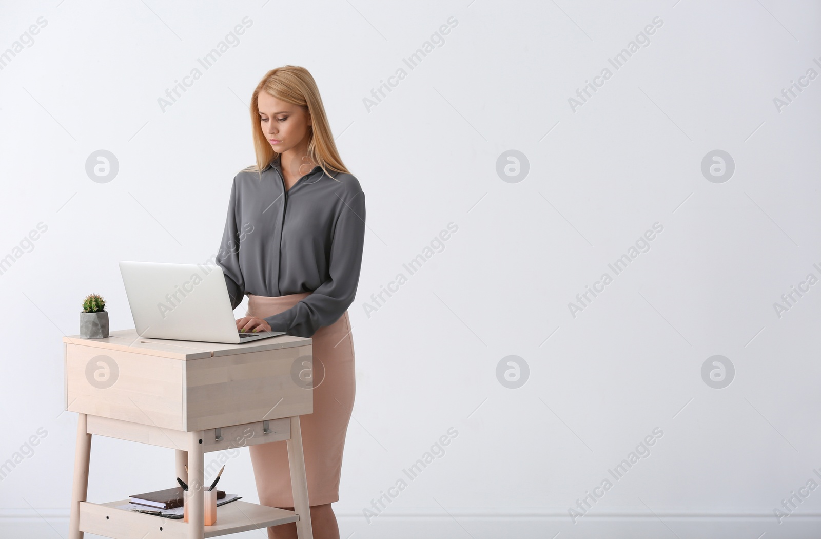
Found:
[[[264,320],[311,337],[354,301],[365,243],[365,193],[351,174],[314,167],[286,191],[277,156],[262,172],[234,177],[217,263],[236,309],[245,293],[312,292]]]

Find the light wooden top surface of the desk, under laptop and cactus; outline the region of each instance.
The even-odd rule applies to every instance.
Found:
[[[203,343],[200,341],[179,341],[174,339],[148,339],[146,337],[140,337],[136,329],[132,328],[111,331],[105,339],[84,339],[80,337],[80,335],[69,335],[63,337],[62,342],[186,360],[307,346],[314,341],[313,339],[305,339],[304,337],[295,337],[293,335],[277,335],[277,337],[268,337],[268,339],[257,339],[251,343]]]

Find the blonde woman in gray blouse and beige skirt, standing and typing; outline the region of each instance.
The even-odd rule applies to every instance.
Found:
[[[249,297],[237,329],[314,339],[314,412],[300,418],[311,526],[317,539],[338,539],[331,503],[355,394],[346,309],[360,276],[365,194],[304,67],[268,71],[250,109],[256,165],[234,178],[218,264],[232,306]],[[249,450],[260,503],[293,510],[286,442]],[[296,537],[296,524],[269,527],[268,537]]]

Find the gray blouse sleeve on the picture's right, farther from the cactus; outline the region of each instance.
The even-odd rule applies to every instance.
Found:
[[[342,202],[328,259],[330,279],[287,311],[265,318],[273,331],[311,337],[337,321],[354,301],[365,245],[365,193],[356,191]]]

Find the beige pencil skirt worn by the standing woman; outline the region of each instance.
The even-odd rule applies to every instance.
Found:
[[[309,295],[310,292],[279,297],[248,294],[245,316],[273,316]],[[332,325],[319,328],[311,339],[314,339],[314,412],[300,416],[300,427],[308,503],[323,505],[339,500],[342,449],[354,405],[354,345],[347,311]],[[250,445],[248,449],[259,503],[268,507],[293,507],[286,442]]]

